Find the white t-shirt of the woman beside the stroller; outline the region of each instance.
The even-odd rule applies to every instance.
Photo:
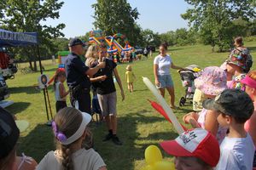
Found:
[[[158,65],[157,75],[169,75],[172,58],[168,54],[165,57],[159,54],[154,58],[154,65]]]

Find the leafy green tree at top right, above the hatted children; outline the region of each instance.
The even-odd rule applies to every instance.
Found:
[[[189,20],[189,26],[201,31],[201,36],[214,48],[218,45],[219,51],[223,51],[230,45],[234,31],[232,20],[241,18],[251,20],[256,12],[253,0],[185,0],[194,8],[189,8],[182,14],[184,20]]]

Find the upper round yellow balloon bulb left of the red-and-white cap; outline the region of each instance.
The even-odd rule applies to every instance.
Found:
[[[148,165],[154,165],[157,161],[162,161],[163,156],[160,152],[160,149],[155,145],[150,145],[145,150],[145,160]]]

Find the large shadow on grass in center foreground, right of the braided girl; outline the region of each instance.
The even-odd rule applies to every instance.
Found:
[[[138,126],[145,125],[150,127],[154,122],[166,122],[159,116],[148,116],[144,111],[130,112],[125,116],[118,117],[118,136],[123,145],[115,145],[113,142],[102,142],[104,136],[108,133],[105,123],[94,129],[94,138],[96,149],[111,170],[134,170],[135,161],[144,160],[144,150],[150,144],[156,144],[157,140],[174,139],[177,133],[150,133],[148,137],[140,137]],[[148,126],[149,125],[149,126]],[[150,129],[145,129],[149,130]],[[152,129],[153,131],[153,129]],[[143,140],[143,141],[140,141]]]

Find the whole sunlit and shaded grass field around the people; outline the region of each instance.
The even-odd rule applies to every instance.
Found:
[[[245,45],[251,49],[251,54],[256,56],[256,42],[246,42]],[[187,66],[196,64],[204,68],[209,65],[221,65],[228,56],[228,53],[212,53],[210,46],[195,45],[170,48],[172,59],[175,65]],[[156,53],[154,54],[154,56]],[[45,74],[51,77],[57,65],[51,65],[50,60],[43,61]],[[107,133],[105,123],[93,126],[96,150],[110,170],[139,170],[145,165],[144,150],[150,144],[159,144],[166,139],[174,139],[177,133],[172,125],[148,104],[147,99],[155,100],[148,88],[143,84],[142,77],[148,77],[154,82],[153,59],[136,61],[132,64],[133,71],[137,76],[134,83],[135,92],[129,93],[125,83],[125,67],[127,64],[118,66],[119,75],[125,89],[125,101],[121,101],[118,91],[118,135],[123,141],[122,146],[116,146],[111,141],[102,143],[102,138]],[[26,64],[20,64],[20,68]],[[256,66],[253,65],[253,69]],[[26,155],[34,157],[40,161],[49,151],[55,149],[51,128],[45,125],[47,116],[44,106],[43,91],[35,88],[39,72],[15,75],[15,79],[8,80],[10,98],[15,101],[14,105],[7,108],[15,114],[18,119],[30,122],[26,132],[20,134],[18,144],[19,154],[25,152]],[[178,100],[184,95],[184,88],[176,70],[172,70],[172,78],[175,84],[176,105]],[[55,115],[55,98],[52,87],[49,87],[49,99],[53,114]],[[170,99],[166,101],[169,103]],[[174,111],[179,120],[182,116],[191,111],[192,105],[186,105]],[[162,153],[163,150],[162,150]],[[171,156],[164,154],[166,160]]]

